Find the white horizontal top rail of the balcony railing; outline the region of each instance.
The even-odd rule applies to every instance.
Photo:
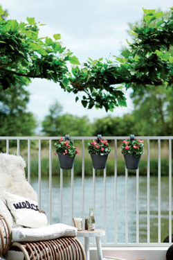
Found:
[[[57,140],[60,139],[61,137],[0,137],[0,140]],[[121,140],[121,139],[129,139],[129,136],[126,137],[102,137],[104,139],[108,140]],[[90,140],[90,139],[98,139],[98,137],[70,137],[70,139],[73,140]],[[149,139],[149,140],[169,140],[173,139],[173,136],[168,136],[168,137],[143,137],[143,136],[137,136],[135,139]]]

